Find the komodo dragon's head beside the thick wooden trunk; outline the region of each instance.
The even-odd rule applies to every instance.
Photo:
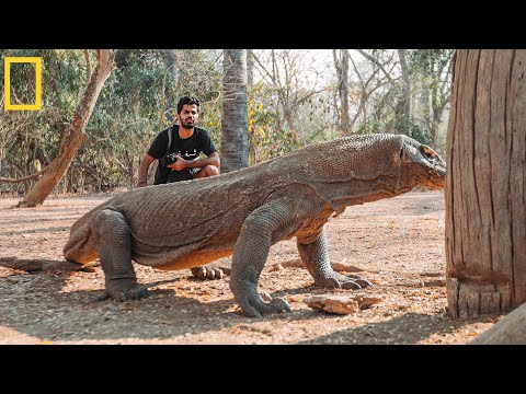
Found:
[[[402,176],[410,176],[415,185],[443,189],[446,182],[446,163],[426,144],[403,136],[400,149]]]

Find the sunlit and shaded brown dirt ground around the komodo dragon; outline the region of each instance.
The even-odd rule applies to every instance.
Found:
[[[370,289],[318,289],[305,268],[289,266],[299,258],[295,240],[274,245],[259,289],[283,297],[294,313],[247,317],[233,301],[229,277],[199,281],[188,269],[135,264],[150,297],[117,303],[98,301],[104,288],[100,267],[92,273],[4,267],[2,258],[12,256],[64,260],[70,225],[110,197],[54,196],[24,209],[13,208],[19,198],[0,198],[0,344],[467,344],[503,317],[446,314],[443,193],[413,192],[348,207],[330,219],[332,263],[355,267],[375,283]],[[304,303],[315,294],[363,294],[381,302],[336,315]]]

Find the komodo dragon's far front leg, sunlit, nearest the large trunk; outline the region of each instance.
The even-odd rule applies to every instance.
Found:
[[[311,241],[307,243],[307,241]],[[368,280],[357,276],[344,276],[335,273],[329,259],[329,245],[327,244],[325,228],[323,227],[317,237],[297,239],[298,252],[305,266],[309,270],[315,285],[322,288],[361,289],[373,287]]]

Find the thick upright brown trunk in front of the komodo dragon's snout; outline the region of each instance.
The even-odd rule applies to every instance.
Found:
[[[526,50],[458,50],[447,134],[449,314],[526,301]]]

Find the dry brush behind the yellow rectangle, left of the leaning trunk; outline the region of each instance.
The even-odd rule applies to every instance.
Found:
[[[43,59],[43,107],[41,111],[8,111],[0,107],[0,151],[3,155],[1,182],[23,185],[28,192],[36,176],[27,176],[36,167],[46,169],[54,158],[69,120],[72,118],[80,94],[85,89],[87,61],[82,50],[2,49],[1,57],[33,57]],[[22,71],[22,72],[20,72]],[[3,72],[3,70],[2,70]],[[3,73],[0,72],[3,85]],[[11,101],[34,101],[34,68],[13,69]],[[3,94],[3,88],[1,89]],[[13,179],[14,178],[14,179]],[[3,185],[7,186],[7,185]],[[21,192],[19,189],[19,192]]]

